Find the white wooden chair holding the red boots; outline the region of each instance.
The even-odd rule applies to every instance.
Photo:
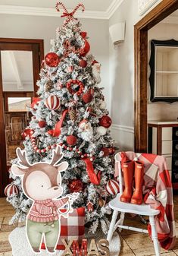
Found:
[[[115,161],[118,162],[120,193],[117,194],[116,198],[109,202],[109,207],[111,207],[111,209],[114,210],[114,212],[112,215],[107,240],[108,242],[111,242],[112,235],[117,228],[119,228],[120,232],[122,229],[129,229],[136,232],[148,233],[147,229],[139,229],[133,226],[123,226],[125,213],[136,213],[142,216],[149,216],[149,222],[151,225],[151,238],[154,243],[155,255],[160,256],[158,234],[155,229],[155,216],[158,215],[160,211],[151,209],[149,204],[136,205],[123,203],[120,201],[120,195],[123,194],[123,182],[120,160],[120,153],[117,153],[115,156]],[[117,221],[118,213],[120,213],[120,219]]]

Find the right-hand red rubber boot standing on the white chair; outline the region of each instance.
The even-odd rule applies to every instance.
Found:
[[[136,190],[133,193],[131,204],[142,204],[142,184],[144,175],[144,164],[135,162],[135,186]]]

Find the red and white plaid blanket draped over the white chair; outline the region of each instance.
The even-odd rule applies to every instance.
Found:
[[[145,164],[143,194],[145,204],[160,210],[155,217],[158,240],[162,248],[169,250],[176,242],[176,227],[173,213],[173,191],[170,174],[164,156],[151,153],[124,152],[115,156],[115,177],[119,175],[118,162],[125,157],[129,160],[140,160]],[[122,156],[121,156],[122,155]],[[151,235],[151,226],[148,225]]]

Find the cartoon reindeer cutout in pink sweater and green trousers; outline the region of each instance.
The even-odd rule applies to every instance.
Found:
[[[68,163],[58,163],[63,157],[60,146],[53,150],[51,163],[30,164],[25,150],[17,148],[16,152],[18,164],[12,165],[11,170],[14,175],[21,177],[23,192],[33,201],[26,222],[28,242],[33,251],[40,253],[44,239],[45,248],[49,253],[54,253],[61,233],[61,214],[67,216],[72,211],[71,204],[77,198],[77,193],[60,198],[63,193],[61,172],[67,169]],[[67,210],[61,213],[60,208],[65,205]]]

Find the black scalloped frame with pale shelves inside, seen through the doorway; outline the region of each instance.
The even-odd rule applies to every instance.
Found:
[[[151,40],[151,102],[178,101],[178,41]]]

